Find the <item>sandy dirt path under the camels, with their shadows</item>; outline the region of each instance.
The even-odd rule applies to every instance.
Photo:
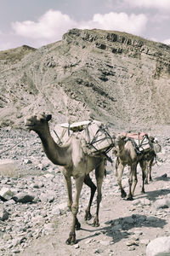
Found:
[[[155,201],[170,197],[169,165],[161,164],[153,167],[153,182],[145,186],[146,193],[142,195],[141,173],[139,171],[139,183],[137,185],[133,201],[122,200],[120,191],[113,188],[106,191],[105,182],[112,183],[111,175],[104,182],[103,201],[100,207],[99,228],[94,228],[90,221],[83,220],[84,211],[80,207],[78,218],[82,229],[77,231],[77,244],[67,246],[71,225],[71,212],[54,218],[54,234],[35,239],[31,247],[27,247],[20,256],[30,255],[145,255],[145,248],[149,241],[157,236],[170,236],[170,209],[156,210]],[[167,177],[163,177],[167,173]],[[111,178],[109,180],[108,178]],[[127,190],[127,177],[123,179]],[[114,195],[113,195],[114,194]],[[92,213],[95,212],[95,202]]]

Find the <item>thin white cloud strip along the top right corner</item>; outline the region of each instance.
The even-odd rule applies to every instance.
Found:
[[[167,11],[170,8],[169,0],[123,0],[123,2],[128,3],[133,8],[155,8]]]

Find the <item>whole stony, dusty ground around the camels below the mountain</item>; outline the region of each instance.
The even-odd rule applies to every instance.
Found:
[[[1,154],[1,160],[13,160],[17,168],[13,170],[9,166],[8,171],[1,173],[0,189],[8,187],[15,189],[15,193],[34,195],[32,203],[1,201],[1,206],[9,213],[8,219],[0,223],[1,255],[142,256],[149,241],[157,236],[170,236],[170,208],[156,209],[156,201],[170,199],[169,137],[158,137],[162,153],[158,166],[153,166],[153,182],[145,185],[144,195],[140,193],[142,177],[138,170],[139,183],[133,201],[120,197],[115,166],[106,166],[99,228],[92,226],[93,219],[88,223],[83,219],[89,198],[89,189],[83,186],[78,214],[82,229],[77,230],[77,244],[68,246],[65,240],[70,231],[71,212],[66,207],[65,183],[59,167],[47,160],[36,135],[8,128],[0,131],[1,152],[20,142]],[[91,177],[94,179],[93,173]],[[127,170],[123,184],[127,191]],[[95,207],[94,200],[93,214]]]

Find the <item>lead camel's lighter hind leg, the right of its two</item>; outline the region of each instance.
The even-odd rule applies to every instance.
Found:
[[[102,163],[95,169],[98,195],[97,195],[96,215],[94,218],[94,227],[99,226],[99,204],[102,199],[101,187],[102,187],[104,175],[105,175],[105,161],[102,161]]]

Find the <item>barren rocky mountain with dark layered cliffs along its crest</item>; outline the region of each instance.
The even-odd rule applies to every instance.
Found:
[[[72,29],[40,49],[1,51],[0,125],[19,127],[32,112],[117,128],[169,125],[169,60],[166,44],[97,29]]]

